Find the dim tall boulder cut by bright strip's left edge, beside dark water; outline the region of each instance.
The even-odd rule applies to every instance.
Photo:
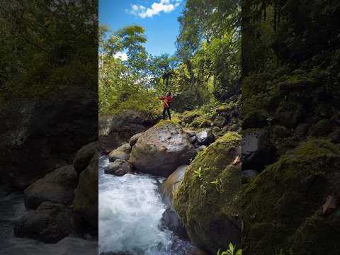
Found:
[[[74,212],[81,215],[90,227],[98,230],[98,152],[79,176],[73,205]]]

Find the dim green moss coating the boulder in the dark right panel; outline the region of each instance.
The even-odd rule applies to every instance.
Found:
[[[338,147],[328,140],[310,139],[256,176],[240,196],[244,251],[271,255],[283,249],[288,254],[295,242],[290,237],[336,191],[339,167]],[[259,234],[263,228],[265,234]],[[322,238],[322,232],[318,236]]]

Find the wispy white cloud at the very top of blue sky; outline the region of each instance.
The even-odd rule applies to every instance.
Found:
[[[169,13],[181,4],[181,0],[159,0],[154,2],[150,7],[142,5],[132,4],[130,10],[126,10],[128,13],[139,16],[140,18],[151,18],[154,15],[159,15],[162,11]]]

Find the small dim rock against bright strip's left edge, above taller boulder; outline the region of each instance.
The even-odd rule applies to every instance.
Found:
[[[77,171],[78,174],[81,173],[86,166],[89,165],[94,153],[98,150],[98,141],[91,142],[89,145],[85,145],[79,149],[76,156],[73,159],[74,170]]]

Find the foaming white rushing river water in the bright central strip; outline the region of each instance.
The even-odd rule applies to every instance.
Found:
[[[164,179],[147,174],[104,174],[99,159],[99,251],[134,255],[181,255],[191,243],[159,229],[165,205],[158,193]]]

